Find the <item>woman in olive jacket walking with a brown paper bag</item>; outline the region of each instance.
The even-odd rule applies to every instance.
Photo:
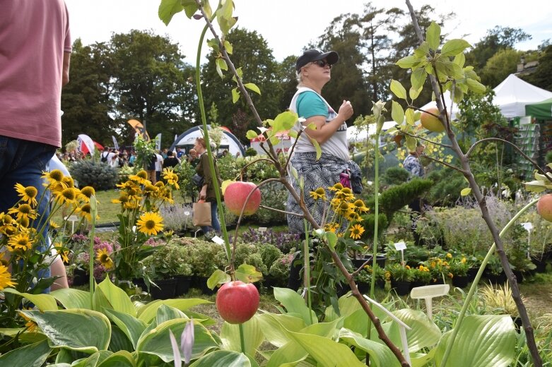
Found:
[[[221,223],[218,222],[218,211],[216,203],[216,193],[215,188],[213,187],[213,176],[211,176],[211,169],[209,169],[209,155],[206,154],[207,145],[205,144],[204,138],[197,138],[194,145],[194,150],[196,150],[199,155],[199,164],[196,167],[196,173],[199,176],[204,178],[204,185],[199,191],[199,200],[205,200],[211,203],[211,227],[201,227],[201,230],[204,234],[213,229],[215,231],[221,231]],[[216,178],[218,180],[218,187],[221,187],[221,174],[218,173],[218,167],[215,164]],[[222,193],[221,193],[222,197]]]

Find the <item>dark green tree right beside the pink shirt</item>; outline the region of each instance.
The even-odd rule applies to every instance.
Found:
[[[81,133],[102,144],[111,142],[117,124],[110,116],[113,100],[106,45],[83,46],[80,39],[75,40],[69,80],[61,94],[61,145]]]

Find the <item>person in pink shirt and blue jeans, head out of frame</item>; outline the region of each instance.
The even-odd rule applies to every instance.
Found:
[[[6,212],[19,200],[16,183],[35,186],[37,198],[45,193],[42,172],[61,148],[71,35],[63,0],[3,0],[0,8],[0,212]],[[44,195],[41,217],[49,215]],[[43,227],[46,239],[49,226]]]

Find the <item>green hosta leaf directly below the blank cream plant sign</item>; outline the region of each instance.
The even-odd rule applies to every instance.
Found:
[[[409,351],[418,351],[425,347],[433,347],[439,342],[441,330],[422,311],[412,308],[403,308],[393,312],[411,330],[406,330],[406,338],[409,341]]]

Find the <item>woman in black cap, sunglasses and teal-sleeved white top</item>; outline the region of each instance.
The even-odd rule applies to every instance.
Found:
[[[343,100],[336,113],[321,95],[322,88],[331,78],[331,66],[338,60],[339,55],[334,51],[322,52],[317,49],[305,51],[295,63],[298,90],[290,103],[290,109],[297,112],[300,117],[300,121],[294,128],[298,131],[303,129],[295,145],[291,164],[298,175],[304,178],[303,198],[319,224],[322,224],[324,212],[328,211],[327,205],[315,205],[315,199],[309,193],[322,187],[328,197],[330,193],[327,188],[340,182],[340,175],[343,172],[348,172],[351,176],[354,175],[360,179],[360,168],[349,160],[345,121],[353,115],[351,102]],[[316,129],[305,129],[309,124],[314,124]],[[316,140],[322,149],[322,157],[319,160],[316,158],[315,146],[311,143],[311,139]],[[293,180],[293,188],[300,195],[299,183],[295,180]],[[298,203],[291,195],[288,196],[287,210],[301,212]],[[288,215],[288,225],[290,231],[300,233],[305,231],[301,217]]]

